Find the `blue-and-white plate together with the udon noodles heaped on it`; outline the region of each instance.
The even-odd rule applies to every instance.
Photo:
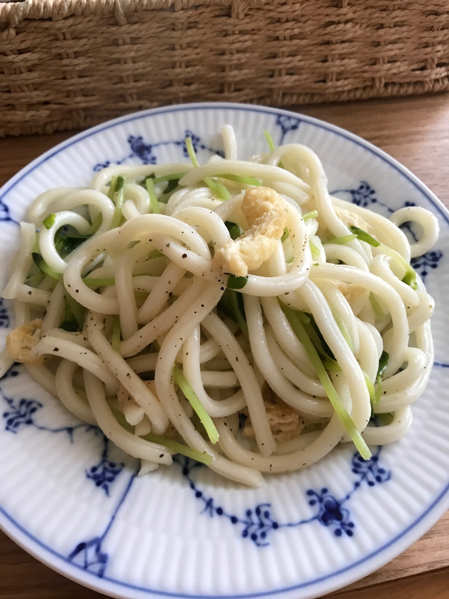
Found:
[[[2,529],[126,598],[317,597],[394,558],[449,507],[448,226],[275,108],[45,153],[0,192]]]

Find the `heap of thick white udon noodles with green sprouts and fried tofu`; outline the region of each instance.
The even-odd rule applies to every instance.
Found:
[[[424,208],[386,219],[329,196],[299,144],[117,165],[32,202],[3,297],[2,353],[141,460],[176,453],[251,486],[339,443],[391,443],[433,362],[433,299],[410,266]],[[414,222],[415,243],[400,228]]]

